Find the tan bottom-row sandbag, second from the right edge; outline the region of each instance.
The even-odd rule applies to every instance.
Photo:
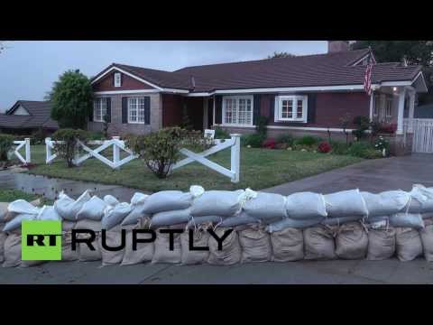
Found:
[[[422,255],[422,242],[419,231],[414,228],[396,228],[395,251],[401,262],[411,261]]]

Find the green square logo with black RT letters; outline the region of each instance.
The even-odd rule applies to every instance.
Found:
[[[61,221],[24,220],[21,233],[23,261],[61,260]]]

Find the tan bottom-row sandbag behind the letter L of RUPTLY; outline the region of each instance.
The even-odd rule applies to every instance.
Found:
[[[194,247],[207,247],[209,241],[209,233],[207,226],[200,226],[193,230],[192,245]],[[189,229],[180,234],[181,246],[181,265],[199,265],[207,263],[209,250],[190,250],[189,249]]]

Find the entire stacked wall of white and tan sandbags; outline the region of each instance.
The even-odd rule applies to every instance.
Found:
[[[15,200],[7,206],[0,203],[4,267],[45,262],[21,259],[23,220],[61,220],[62,260],[102,261],[102,265],[235,265],[392,256],[410,261],[421,255],[433,261],[433,188],[419,184],[409,192],[344,190],[287,197],[191,186],[189,192],[137,192],[129,203],[111,195],[100,199],[86,190],[77,200],[61,192],[54,206],[42,208]],[[79,243],[73,250],[73,229],[94,231],[95,249]],[[135,242],[140,229],[154,230],[154,240]],[[170,235],[170,229],[176,233]],[[122,249],[106,249],[117,246]],[[191,250],[191,246],[207,248]]]

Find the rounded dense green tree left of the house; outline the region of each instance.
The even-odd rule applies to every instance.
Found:
[[[84,128],[93,109],[90,79],[79,70],[64,72],[47,97],[51,101],[51,118],[60,127]]]

